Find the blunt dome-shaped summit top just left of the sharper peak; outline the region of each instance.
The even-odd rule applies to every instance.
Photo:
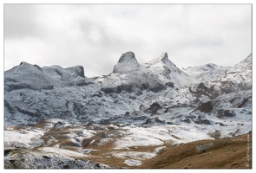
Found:
[[[121,54],[121,57],[114,67],[113,74],[127,74],[140,67],[140,64],[135,58],[135,53],[127,52]]]

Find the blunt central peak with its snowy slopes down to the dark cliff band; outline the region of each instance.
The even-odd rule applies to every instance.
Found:
[[[102,83],[104,93],[125,91],[141,95],[144,90],[157,93],[166,89],[164,83],[155,74],[137,62],[132,52],[121,55],[113,73],[96,80]]]

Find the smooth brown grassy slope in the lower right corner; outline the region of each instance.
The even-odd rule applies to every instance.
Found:
[[[250,144],[252,143],[250,134]],[[213,146],[204,152],[196,151],[199,144],[209,144]],[[159,169],[218,169],[218,168],[252,168],[252,148],[250,145],[250,161],[246,159],[247,134],[235,139],[222,138],[218,140],[195,141],[179,146],[171,146],[158,157],[154,157],[143,163],[138,168],[159,168]],[[249,166],[246,167],[246,163]]]

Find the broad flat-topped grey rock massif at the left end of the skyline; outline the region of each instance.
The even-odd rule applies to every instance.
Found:
[[[85,78],[82,66],[39,67],[21,62],[17,67],[4,72],[4,91],[18,89],[52,90],[64,86],[85,86],[92,83]]]

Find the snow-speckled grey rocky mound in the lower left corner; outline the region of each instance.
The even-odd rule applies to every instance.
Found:
[[[21,151],[5,157],[4,169],[109,169],[108,165],[45,151]]]

